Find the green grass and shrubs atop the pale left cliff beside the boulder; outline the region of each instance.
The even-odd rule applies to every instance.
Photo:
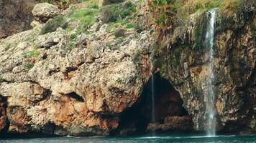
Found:
[[[85,9],[73,9],[67,17],[57,16],[55,17],[55,19],[47,21],[47,24],[45,24],[45,26],[43,27],[41,34],[55,31],[58,27],[63,27],[63,29],[66,29],[66,31],[68,32],[73,31],[74,27],[72,26],[72,24],[67,24],[66,22],[66,19],[70,19],[70,22],[81,22],[78,29],[76,29],[76,34],[70,35],[70,39],[76,39],[78,34],[86,32],[87,29],[89,29],[93,24],[96,23],[96,21],[99,20],[96,19],[96,16],[98,16],[99,14],[103,16],[104,23],[109,23],[109,27],[107,29],[112,34],[116,33],[115,29],[138,28],[137,23],[133,21],[133,14],[135,14],[136,9],[130,1],[124,1],[118,4],[109,4],[103,7],[99,7],[98,3],[95,0],[81,0],[76,2],[82,1],[84,2],[84,4],[86,4]],[[72,3],[74,1],[67,2]]]

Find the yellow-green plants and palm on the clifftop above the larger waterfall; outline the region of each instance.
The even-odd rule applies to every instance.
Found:
[[[255,7],[254,0],[152,0],[150,5],[158,35],[185,26],[188,16],[218,8],[227,16]]]

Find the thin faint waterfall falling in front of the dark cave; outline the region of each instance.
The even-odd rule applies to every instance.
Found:
[[[151,71],[153,70],[153,64],[152,64],[152,57],[153,57],[153,52],[150,55],[150,67],[151,67]],[[151,122],[154,123],[155,122],[155,76],[154,73],[152,73],[151,76],[151,102],[152,102],[152,109],[151,109]],[[155,136],[155,131],[152,130],[152,136]]]

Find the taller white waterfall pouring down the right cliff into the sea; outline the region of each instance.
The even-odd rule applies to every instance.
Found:
[[[206,44],[209,48],[209,64],[208,74],[206,78],[206,114],[207,114],[207,135],[215,136],[216,134],[216,109],[215,103],[215,93],[214,93],[214,25],[216,19],[216,9],[212,9],[207,13],[207,19],[209,20],[207,24],[206,31]]]

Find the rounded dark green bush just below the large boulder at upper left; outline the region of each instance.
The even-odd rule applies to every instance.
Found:
[[[68,23],[62,15],[56,16],[54,19],[50,19],[46,22],[45,26],[42,28],[40,34],[47,34],[49,32],[56,31],[59,27],[65,29]]]

